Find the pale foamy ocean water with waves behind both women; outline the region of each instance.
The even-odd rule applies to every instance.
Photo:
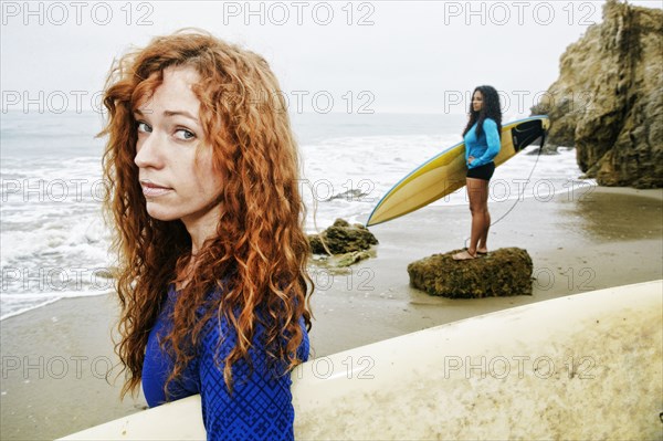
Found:
[[[295,114],[309,232],[366,222],[396,182],[461,140],[463,115]],[[0,120],[0,319],[67,296],[113,291],[101,212],[103,120],[96,113],[7,113]],[[528,150],[534,151],[536,147]],[[551,198],[578,180],[575,150],[519,154],[499,167],[491,203]],[[528,182],[525,180],[528,179]],[[465,204],[464,190],[434,204]],[[315,218],[314,218],[315,214]]]

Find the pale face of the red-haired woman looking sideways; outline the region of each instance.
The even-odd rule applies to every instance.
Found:
[[[138,122],[138,178],[155,219],[181,219],[187,227],[219,220],[221,179],[212,167],[212,147],[203,144],[191,86],[200,80],[192,67],[164,70],[164,83],[135,112]],[[198,150],[198,155],[197,155]]]

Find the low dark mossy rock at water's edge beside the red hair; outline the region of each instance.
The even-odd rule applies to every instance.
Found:
[[[314,254],[346,254],[370,249],[378,244],[376,237],[360,223],[349,224],[346,220],[337,219],[332,227],[320,234],[309,234],[308,242]],[[324,243],[323,243],[324,242]]]

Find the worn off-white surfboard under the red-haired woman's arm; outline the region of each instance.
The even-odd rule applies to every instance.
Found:
[[[477,316],[359,347],[293,374],[295,437],[656,439],[663,281]],[[204,439],[200,397],[63,440]]]

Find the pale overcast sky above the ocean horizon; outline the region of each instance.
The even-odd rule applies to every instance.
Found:
[[[661,0],[631,3],[661,8]],[[557,78],[567,45],[601,20],[602,4],[3,1],[2,111],[33,112],[35,99],[75,111],[76,96],[88,108],[114,57],[197,27],[263,54],[303,112],[464,113],[471,90],[492,84],[508,101],[506,114],[528,114]]]

